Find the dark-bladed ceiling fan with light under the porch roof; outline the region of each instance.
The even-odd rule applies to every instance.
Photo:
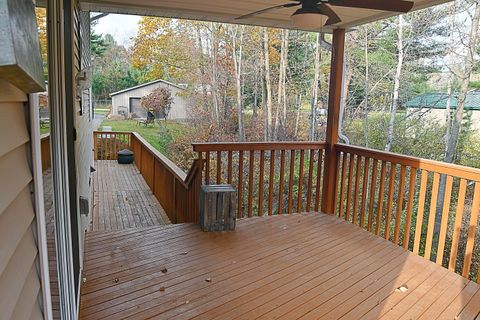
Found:
[[[300,29],[316,30],[324,25],[341,22],[340,17],[332,7],[350,7],[392,12],[409,12],[413,7],[412,1],[404,0],[291,0],[289,3],[265,8],[235,18],[235,20],[250,17],[283,8],[300,8],[292,14],[292,22]]]

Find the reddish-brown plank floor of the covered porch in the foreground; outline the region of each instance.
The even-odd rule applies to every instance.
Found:
[[[81,319],[475,319],[480,286],[324,215],[91,232]]]

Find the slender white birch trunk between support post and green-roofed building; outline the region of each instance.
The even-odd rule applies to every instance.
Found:
[[[398,16],[397,50],[398,50],[398,61],[397,61],[397,69],[395,72],[395,78],[393,82],[393,99],[392,99],[392,106],[390,108],[390,122],[388,124],[387,143],[385,144],[385,151],[390,151],[390,149],[392,148],[393,129],[395,127],[395,116],[397,115],[397,109],[398,109],[400,79],[402,77],[403,59],[405,54],[404,45],[403,45],[403,16],[402,15]]]

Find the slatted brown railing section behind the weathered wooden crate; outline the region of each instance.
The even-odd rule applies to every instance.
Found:
[[[322,192],[320,142],[194,143],[205,163],[203,184],[232,184],[237,217],[318,211]]]

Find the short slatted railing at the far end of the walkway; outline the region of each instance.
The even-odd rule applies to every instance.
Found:
[[[95,160],[116,160],[117,152],[129,149],[131,146],[131,132],[93,132],[93,148]]]

